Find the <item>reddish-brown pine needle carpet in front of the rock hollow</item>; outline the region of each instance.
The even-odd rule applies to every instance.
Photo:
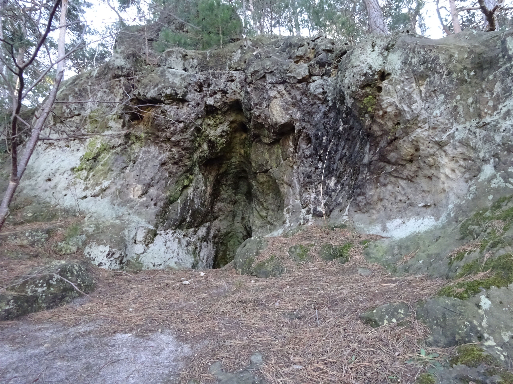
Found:
[[[311,231],[294,236],[309,244],[317,236],[322,244],[323,231]],[[351,237],[353,244],[362,240],[349,231],[339,235]],[[279,240],[272,240],[278,254]],[[289,242],[283,238],[283,244]],[[353,247],[344,264],[313,258],[267,279],[238,275],[229,267],[131,273],[95,268],[97,289],[89,297],[29,319],[68,326],[94,323],[95,332],[104,334],[170,331],[193,351],[181,373],[184,383],[216,382],[209,373],[215,361],[236,372],[255,352],[263,356],[255,374],[269,383],[413,382],[427,364],[426,351],[435,352],[422,344],[427,329],[415,318],[374,329],[359,314],[433,296],[444,281],[395,278],[366,263],[359,250]],[[370,275],[359,274],[362,267]]]

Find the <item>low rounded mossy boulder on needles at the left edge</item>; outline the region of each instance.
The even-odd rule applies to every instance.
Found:
[[[91,292],[96,284],[86,267],[78,263],[55,261],[28,271],[0,294],[0,320],[69,303],[81,295],[70,282],[84,293]]]

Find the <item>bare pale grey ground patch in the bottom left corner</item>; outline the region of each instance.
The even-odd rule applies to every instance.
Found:
[[[95,324],[16,322],[0,332],[0,381],[11,384],[41,381],[41,372],[54,382],[174,384],[190,358],[190,346],[169,331],[102,335]]]

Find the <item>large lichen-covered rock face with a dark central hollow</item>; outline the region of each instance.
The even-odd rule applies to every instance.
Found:
[[[133,38],[58,96],[54,125],[95,136],[38,146],[21,187],[87,215],[97,265],[219,267],[252,236],[324,216],[442,252],[512,193],[510,32],[349,51],[258,37],[149,62]]]

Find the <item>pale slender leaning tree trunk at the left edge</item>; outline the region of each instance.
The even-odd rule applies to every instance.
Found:
[[[7,215],[9,215],[9,204],[12,201],[12,198],[14,197],[14,193],[16,192],[16,188],[19,185],[19,180],[22,178],[23,174],[25,173],[25,169],[27,169],[27,164],[30,160],[30,157],[32,156],[32,153],[34,152],[34,148],[37,144],[37,141],[39,139],[39,135],[41,131],[43,130],[45,121],[50,114],[55,98],[57,96],[58,88],[61,84],[61,81],[64,77],[64,69],[65,69],[65,43],[66,43],[66,13],[68,11],[68,0],[62,0],[61,3],[61,21],[60,21],[60,29],[59,29],[59,39],[58,39],[58,45],[57,45],[57,57],[58,59],[61,59],[57,63],[57,74],[55,75],[55,80],[53,82],[53,87],[50,91],[50,94],[48,95],[48,99],[46,100],[43,111],[41,111],[40,116],[37,118],[35,125],[32,129],[32,134],[30,136],[30,140],[27,143],[27,146],[25,147],[25,151],[23,153],[23,156],[21,160],[19,161],[19,164],[16,166],[17,172],[15,177],[12,177],[9,180],[9,186],[7,187],[6,193],[4,195],[4,199],[2,200],[2,204],[0,204],[0,229],[4,226],[5,219],[7,218]],[[19,74],[21,76],[21,80],[23,80],[22,74]],[[18,87],[18,89],[21,89]],[[19,92],[21,93],[21,92]],[[21,97],[21,96],[19,96]],[[18,111],[19,112],[19,111]],[[17,122],[16,122],[17,124]],[[11,141],[15,141],[16,138],[11,138]]]

